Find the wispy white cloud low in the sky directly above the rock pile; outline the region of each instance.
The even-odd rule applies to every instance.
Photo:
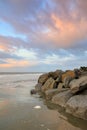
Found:
[[[64,55],[66,54],[66,55]],[[48,68],[54,68],[56,69],[74,69],[74,68],[79,68],[80,66],[86,66],[87,65],[87,55],[86,52],[80,52],[75,55],[74,53],[71,53],[69,51],[62,53],[52,53],[51,55],[47,55],[44,57],[43,60],[41,60],[41,63],[44,64],[45,66],[48,66]],[[52,71],[52,69],[51,69]]]

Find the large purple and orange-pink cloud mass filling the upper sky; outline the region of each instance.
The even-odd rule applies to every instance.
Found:
[[[1,4],[8,10],[1,8],[1,18],[15,33],[24,34],[31,47],[68,48],[87,38],[84,0],[7,0]]]

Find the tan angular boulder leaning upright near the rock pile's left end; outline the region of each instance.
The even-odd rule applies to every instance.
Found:
[[[48,89],[53,89],[55,86],[55,80],[53,78],[49,78],[45,84],[42,86],[42,92],[45,92]]]

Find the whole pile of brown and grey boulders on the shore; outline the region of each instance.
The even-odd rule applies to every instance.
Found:
[[[87,67],[45,73],[39,77],[35,91],[44,93],[47,100],[64,107],[67,113],[87,120]]]

